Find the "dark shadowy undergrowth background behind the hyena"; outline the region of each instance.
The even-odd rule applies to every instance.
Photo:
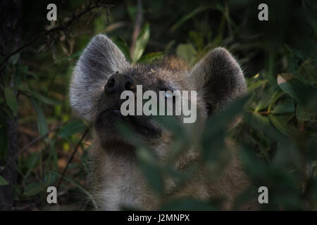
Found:
[[[46,20],[49,3],[57,5],[58,13],[51,28]],[[268,4],[268,21],[258,20],[261,3]],[[68,85],[73,67],[95,34],[107,34],[128,54],[134,51],[146,23],[150,37],[142,51],[147,57],[132,59],[135,63],[175,55],[194,65],[217,46],[237,57],[247,78],[249,101],[244,110],[237,110],[242,123],[226,135],[241,144],[254,184],[271,188],[271,204],[263,209],[316,209],[316,1],[0,4],[1,210],[46,209],[46,187],[58,184],[58,201],[65,209],[72,209],[69,205],[78,196],[86,196],[91,132],[89,124],[71,114]],[[281,74],[292,77],[288,86],[278,84]],[[223,121],[230,116],[224,113]],[[206,136],[216,138],[208,132]],[[220,163],[215,155],[207,163]],[[154,176],[155,169],[146,176]],[[241,202],[254,198],[254,192],[244,193]],[[172,205],[217,209],[212,200],[184,201]]]

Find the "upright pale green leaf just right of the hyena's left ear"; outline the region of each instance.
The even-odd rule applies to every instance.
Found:
[[[135,50],[133,51],[132,62],[137,63],[137,60],[141,58],[145,46],[147,46],[147,42],[149,41],[150,31],[149,31],[149,23],[146,23],[141,32],[139,32],[139,36],[137,36],[137,41],[135,43]]]

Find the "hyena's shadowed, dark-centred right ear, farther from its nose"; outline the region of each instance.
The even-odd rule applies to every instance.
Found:
[[[189,75],[203,96],[209,115],[223,110],[232,99],[247,91],[242,70],[235,58],[223,49],[210,51]]]

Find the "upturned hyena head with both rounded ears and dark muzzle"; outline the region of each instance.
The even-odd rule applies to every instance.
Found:
[[[158,64],[131,65],[108,37],[99,34],[77,62],[70,84],[70,104],[75,114],[94,123],[103,148],[130,144],[116,131],[120,120],[151,146],[170,140],[168,132],[151,117],[121,115],[120,94],[135,91],[139,84],[143,91],[197,91],[197,122],[202,123],[246,91],[240,66],[223,48],[210,51],[194,68],[175,58]]]

